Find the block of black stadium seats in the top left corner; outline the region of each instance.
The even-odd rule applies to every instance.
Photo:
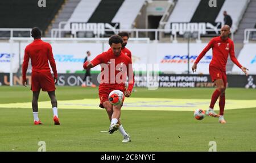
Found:
[[[64,0],[47,1],[47,7],[39,7],[38,1],[1,0],[0,28],[32,28],[39,27],[45,31]],[[23,35],[23,34],[20,34]]]

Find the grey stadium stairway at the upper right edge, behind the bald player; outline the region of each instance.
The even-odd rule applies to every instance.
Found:
[[[242,48],[243,48],[243,39],[244,39],[244,31],[246,28],[254,28],[256,23],[256,0],[250,0],[247,9],[245,10],[245,14],[243,14],[243,18],[241,23],[238,26],[237,32],[234,34],[234,43],[235,43],[235,54],[236,57],[239,56]],[[231,71],[233,66],[233,62],[229,59],[226,70]]]

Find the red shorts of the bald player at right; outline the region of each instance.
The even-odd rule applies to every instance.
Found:
[[[227,78],[226,78],[226,72],[223,70],[220,70],[214,66],[209,66],[209,73],[210,78],[212,78],[212,82],[221,79],[224,82],[224,86],[226,87]]]

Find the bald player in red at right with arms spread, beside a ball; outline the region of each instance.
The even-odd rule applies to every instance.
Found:
[[[230,55],[231,60],[242,72],[247,76],[247,71],[238,61],[234,55],[234,43],[229,38],[230,27],[225,25],[221,28],[221,35],[214,37],[210,40],[207,47],[203,49],[200,55],[197,57],[195,64],[192,66],[192,71],[196,72],[197,64],[203,58],[203,56],[212,48],[213,56],[212,61],[209,64],[209,74],[212,78],[212,82],[216,85],[216,90],[212,94],[212,99],[210,101],[209,109],[207,110],[208,116],[218,117],[218,122],[226,123],[224,119],[224,107],[225,107],[225,90],[226,90],[226,62],[228,61],[228,56]],[[218,105],[220,106],[220,115],[214,112],[213,107],[220,97]]]

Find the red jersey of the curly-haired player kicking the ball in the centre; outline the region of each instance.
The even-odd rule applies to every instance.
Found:
[[[127,76],[129,77],[129,91],[133,90],[134,74],[131,58],[124,53],[115,56],[112,49],[101,53],[94,58],[91,63],[96,66],[101,64],[101,82],[99,89],[102,87],[125,87]]]

